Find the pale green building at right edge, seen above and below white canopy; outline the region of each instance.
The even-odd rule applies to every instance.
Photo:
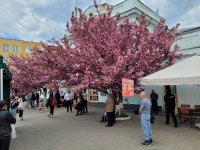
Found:
[[[178,53],[188,56],[200,54],[200,26],[183,28],[182,38],[176,42],[180,46]],[[185,68],[187,69],[187,68]],[[179,106],[181,104],[190,104],[193,107],[195,104],[200,105],[200,85],[181,85],[172,86],[177,94]]]

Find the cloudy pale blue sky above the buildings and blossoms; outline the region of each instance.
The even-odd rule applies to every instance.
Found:
[[[85,10],[93,0],[77,0]],[[116,5],[124,0],[101,0]],[[132,0],[134,1],[134,0]],[[169,26],[200,26],[200,0],[140,0],[167,20]],[[100,0],[97,0],[100,2]],[[75,0],[0,0],[0,38],[48,41],[63,37]]]

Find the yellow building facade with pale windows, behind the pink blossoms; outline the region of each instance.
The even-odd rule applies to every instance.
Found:
[[[30,49],[36,46],[42,48],[39,42],[0,38],[0,55],[5,59],[10,55],[30,56]]]

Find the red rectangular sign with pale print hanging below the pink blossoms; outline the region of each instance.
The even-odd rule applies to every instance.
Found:
[[[122,78],[122,96],[134,96],[134,81],[127,78]]]

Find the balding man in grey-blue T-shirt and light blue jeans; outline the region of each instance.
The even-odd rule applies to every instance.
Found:
[[[153,138],[152,138],[153,135],[150,123],[151,102],[149,101],[149,99],[147,99],[145,91],[142,91],[140,93],[140,99],[141,99],[141,105],[139,109],[139,114],[141,117],[141,126],[144,132],[144,139],[145,139],[142,145],[150,145],[153,143]]]

